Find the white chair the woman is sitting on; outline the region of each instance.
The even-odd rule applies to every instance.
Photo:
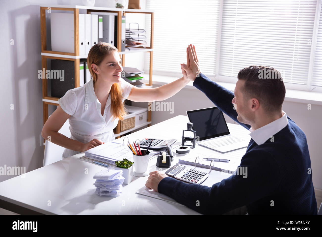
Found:
[[[71,137],[71,132],[69,131],[69,122],[68,119],[62,125],[62,128],[59,129],[59,133],[62,133],[66,137]],[[49,142],[46,139],[45,142],[45,151],[43,153],[43,166],[55,163],[57,161],[62,160],[62,153],[64,152],[65,148],[55,143]]]

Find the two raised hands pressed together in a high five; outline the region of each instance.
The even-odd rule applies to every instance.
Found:
[[[201,73],[196,49],[192,44],[187,47],[187,64],[181,64],[181,71],[184,78],[191,81],[194,81]]]

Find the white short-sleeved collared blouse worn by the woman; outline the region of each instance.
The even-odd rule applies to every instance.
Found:
[[[121,79],[122,102],[128,98],[133,85]],[[70,114],[69,130],[71,131],[71,139],[88,143],[94,138],[109,142],[115,140],[113,129],[118,124],[118,119],[112,119],[111,114],[111,98],[107,99],[104,116],[101,114],[101,103],[94,92],[93,79],[85,83],[81,87],[71,89],[58,100],[63,111]],[[63,158],[70,157],[80,153],[65,148],[62,155]]]

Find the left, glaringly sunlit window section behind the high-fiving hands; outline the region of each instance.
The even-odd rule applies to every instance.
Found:
[[[219,1],[147,0],[146,4],[147,9],[155,10],[153,73],[181,77],[180,63],[186,63],[186,47],[194,44],[202,72],[214,76]],[[147,29],[149,25],[148,15]],[[145,60],[146,65],[149,65],[148,56]],[[148,68],[145,71],[148,72]]]

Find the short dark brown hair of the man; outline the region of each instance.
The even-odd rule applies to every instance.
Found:
[[[269,66],[249,66],[241,69],[237,78],[244,80],[242,93],[256,98],[266,112],[280,112],[285,98],[285,85],[279,71]]]

